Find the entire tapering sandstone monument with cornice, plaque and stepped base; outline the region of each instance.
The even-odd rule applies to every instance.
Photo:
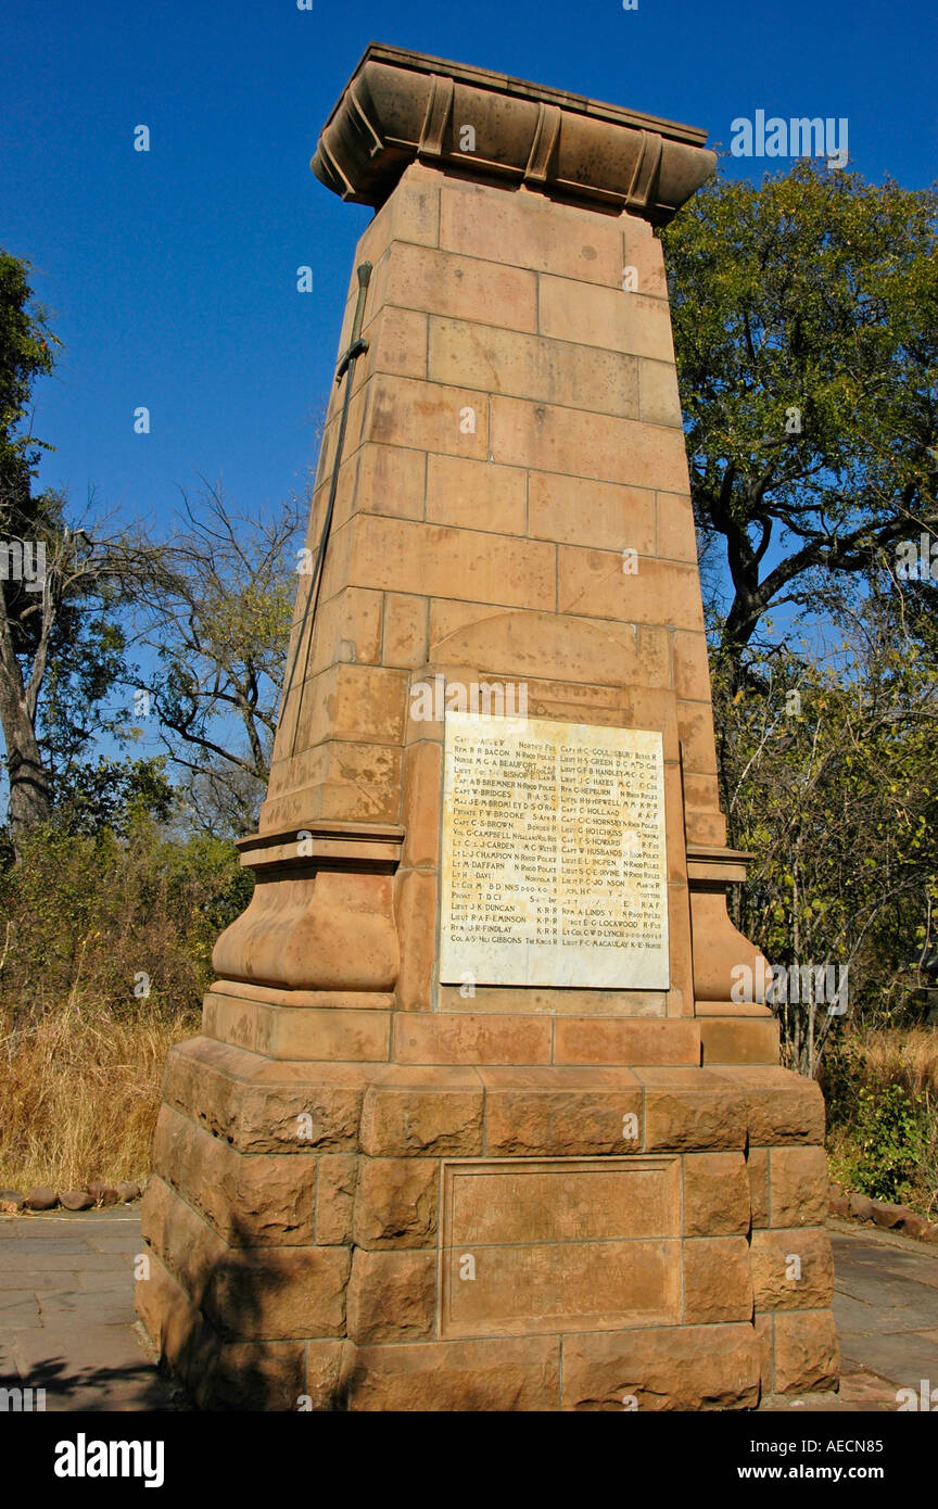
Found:
[[[653,235],[713,161],[382,45],[321,133],[317,177],[377,213],[256,889],[169,1056],[145,1201],[139,1310],[201,1405],[835,1384],[822,1099],[733,1000],[765,960],[727,913]]]

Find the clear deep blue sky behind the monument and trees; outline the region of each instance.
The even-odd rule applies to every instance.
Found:
[[[921,187],[938,177],[936,15],[929,0],[8,6],[0,244],[35,264],[65,343],[38,389],[35,432],[56,445],[41,483],[157,525],[199,474],[252,510],[303,489],[369,219],[309,157],[368,41],[701,125],[724,148],[757,109],[846,116],[852,166]]]

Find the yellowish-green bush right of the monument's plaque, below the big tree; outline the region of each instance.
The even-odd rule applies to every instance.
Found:
[[[938,910],[938,672],[897,616],[893,596],[841,607],[829,655],[787,646],[754,684],[713,678],[730,827],[756,854],[736,920],[777,966],[846,972],[851,1023],[902,1005]],[[848,1019],[832,1003],[789,975],[777,1014],[802,1073]]]

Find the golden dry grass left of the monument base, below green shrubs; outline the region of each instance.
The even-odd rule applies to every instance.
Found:
[[[198,1013],[116,1016],[80,997],[15,1034],[0,1011],[0,1186],[145,1177],[166,1053],[198,1031]]]

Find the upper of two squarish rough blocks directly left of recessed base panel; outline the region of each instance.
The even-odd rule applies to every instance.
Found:
[[[362,1159],[354,1240],[363,1248],[427,1248],[436,1242],[439,1163]]]

